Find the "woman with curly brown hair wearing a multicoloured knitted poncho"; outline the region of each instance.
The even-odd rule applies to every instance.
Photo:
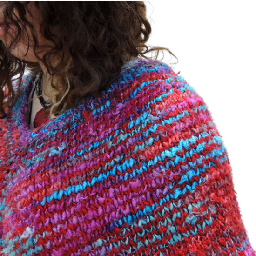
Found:
[[[255,255],[143,2],[0,2],[0,23],[1,255]]]

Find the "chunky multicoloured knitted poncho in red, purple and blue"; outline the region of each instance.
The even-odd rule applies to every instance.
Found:
[[[129,64],[34,129],[24,75],[0,119],[1,255],[255,256],[206,103],[168,64]]]

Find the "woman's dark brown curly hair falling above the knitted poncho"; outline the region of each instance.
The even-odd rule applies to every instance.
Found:
[[[27,28],[34,40],[31,44],[34,55],[51,77],[49,86],[53,90],[54,104],[50,115],[55,116],[74,107],[89,94],[100,97],[102,90],[120,74],[126,57],[126,61],[132,57],[149,59],[145,54],[156,51],[157,59],[159,51],[163,50],[174,55],[168,48],[148,49],[145,44],[151,26],[143,1],[34,1],[31,3],[39,10],[42,20],[40,34],[53,43],[40,58],[37,51],[49,49],[49,45],[39,45],[33,24],[25,17],[27,12],[32,16],[29,3],[10,1],[4,10],[4,25],[8,29],[8,22],[12,22],[18,30],[15,37],[11,35],[8,46],[0,40],[0,118],[7,116],[4,107],[11,108],[17,101],[26,69],[33,75],[42,72],[38,62],[25,61],[11,54],[23,40]],[[15,13],[13,18],[13,9],[18,11],[20,18]],[[18,74],[16,92],[11,81]]]

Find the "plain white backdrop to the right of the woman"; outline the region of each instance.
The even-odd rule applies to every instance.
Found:
[[[256,2],[145,4],[152,27],[147,45],[167,47],[177,56],[171,67],[202,96],[222,135],[243,223],[256,250]],[[177,60],[164,51],[162,61]]]

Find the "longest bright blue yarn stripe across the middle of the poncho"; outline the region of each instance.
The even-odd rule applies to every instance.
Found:
[[[201,137],[205,138],[206,136],[208,136],[207,133],[202,132],[201,134],[198,135],[198,139],[200,140]],[[147,172],[148,171],[148,167],[149,166],[155,166],[157,164],[157,162],[164,162],[164,158],[166,156],[168,156],[169,154],[173,155],[175,152],[178,151],[182,151],[182,148],[184,147],[188,147],[188,143],[193,143],[195,144],[197,139],[197,137],[195,135],[192,135],[191,138],[187,139],[187,140],[182,140],[179,142],[178,146],[173,147],[170,151],[168,150],[164,150],[161,154],[161,156],[156,155],[154,160],[149,160],[147,163],[143,162],[140,169],[134,168],[132,173],[125,173],[123,176],[123,180],[126,181],[128,179],[128,177],[130,176],[130,178],[135,178],[135,176],[141,175],[141,173],[143,172],[143,169]],[[213,140],[210,140],[209,143],[214,142],[214,143],[218,143],[221,144],[222,143],[222,139],[219,136],[214,136]],[[200,151],[204,150],[205,148],[205,142],[202,144],[198,144],[196,149],[192,148],[190,150],[190,157],[193,155],[193,151],[196,153],[199,153]],[[220,148],[220,150],[222,150],[222,148]],[[216,150],[216,152],[218,152],[218,150]],[[188,152],[186,153],[186,155],[188,154]],[[215,153],[214,153],[215,154]],[[180,156],[177,156],[177,161],[182,161],[184,159],[181,158]],[[176,162],[176,161],[175,161]],[[176,164],[178,164],[178,162]],[[63,195],[69,196],[71,193],[78,193],[79,191],[83,191],[87,186],[92,187],[96,182],[100,183],[100,182],[104,182],[108,179],[109,175],[115,176],[116,171],[119,171],[121,173],[124,173],[126,171],[127,168],[133,168],[133,165],[135,164],[135,160],[133,158],[130,158],[128,160],[125,160],[125,162],[123,162],[122,165],[117,165],[115,164],[115,166],[113,167],[112,171],[108,171],[106,174],[101,173],[98,177],[94,176],[92,178],[92,181],[84,181],[82,184],[78,184],[76,186],[69,186],[66,189],[61,189],[59,192],[58,191],[54,191],[54,193],[50,196],[46,196],[43,198],[41,205],[44,205],[46,202],[51,202],[53,199],[58,199],[61,200]],[[175,167],[175,164],[174,164]],[[176,194],[178,193],[178,191],[176,192]],[[176,195],[177,196],[177,195]]]

